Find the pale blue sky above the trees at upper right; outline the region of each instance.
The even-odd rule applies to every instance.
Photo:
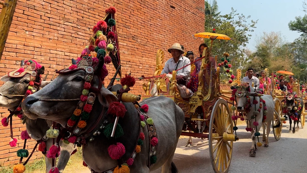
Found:
[[[210,3],[210,0],[208,0]],[[288,23],[294,20],[295,16],[304,16],[304,0],[216,0],[218,11],[221,14],[229,14],[231,7],[245,16],[250,15],[251,19],[257,20],[258,23],[252,33],[252,37],[247,48],[254,51],[256,40],[263,32],[280,32],[285,41],[292,42],[299,37],[300,33],[290,31]]]

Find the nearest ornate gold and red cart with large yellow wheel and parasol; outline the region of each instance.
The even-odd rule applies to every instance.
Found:
[[[220,38],[220,35],[229,38],[222,34],[208,33],[208,35],[211,39],[211,48],[213,40]],[[225,95],[231,94],[231,91],[220,90],[221,69],[220,67],[215,69],[212,66],[212,61],[209,60],[211,48],[205,48],[203,51],[199,85],[197,91],[187,99],[180,96],[176,71],[172,72],[171,78],[160,75],[163,69],[164,53],[159,50],[157,53],[156,72],[153,77],[145,78],[143,76],[141,78],[147,79],[143,83],[145,91],[143,98],[152,97],[153,95],[164,96],[176,102],[185,114],[185,123],[181,135],[207,138],[209,140],[210,160],[214,171],[227,172],[232,158],[233,142],[238,138],[234,135],[236,127],[232,121],[232,111],[229,108],[229,104],[232,104],[232,102],[229,102],[230,97]]]

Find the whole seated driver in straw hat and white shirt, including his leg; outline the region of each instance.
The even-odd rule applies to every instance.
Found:
[[[179,43],[173,44],[168,52],[171,53],[172,58],[168,59],[165,62],[165,66],[161,74],[167,74],[168,78],[171,78],[172,71],[177,71],[177,87],[179,89],[180,95],[182,98],[189,98],[193,95],[193,92],[186,88],[185,85],[188,83],[188,79],[190,78],[191,65],[190,60],[182,56],[184,51]],[[180,69],[180,70],[179,70]]]

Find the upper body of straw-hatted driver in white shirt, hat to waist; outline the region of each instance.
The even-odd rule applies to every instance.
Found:
[[[179,43],[173,44],[168,49],[168,52],[171,53],[172,58],[168,59],[165,62],[165,66],[161,74],[172,73],[172,71],[180,69],[179,71],[177,71],[177,80],[182,81],[179,83],[186,85],[186,83],[184,82],[187,82],[187,79],[190,77],[191,72],[191,65],[187,66],[187,64],[190,63],[190,60],[187,57],[182,56],[184,51],[182,50],[181,45]]]

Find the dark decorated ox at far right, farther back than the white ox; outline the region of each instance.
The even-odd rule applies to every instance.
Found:
[[[291,132],[291,125],[292,125],[292,120],[293,120],[293,129],[292,129],[292,133],[295,133],[295,131],[299,130],[298,127],[298,123],[300,121],[304,121],[304,120],[300,120],[301,114],[302,114],[302,105],[303,104],[303,100],[301,98],[297,98],[296,93],[294,92],[289,93],[286,96],[286,104],[287,104],[287,114],[289,117],[289,122],[290,122],[290,128],[289,128],[289,133]],[[295,128],[295,124],[297,124],[296,128]]]

